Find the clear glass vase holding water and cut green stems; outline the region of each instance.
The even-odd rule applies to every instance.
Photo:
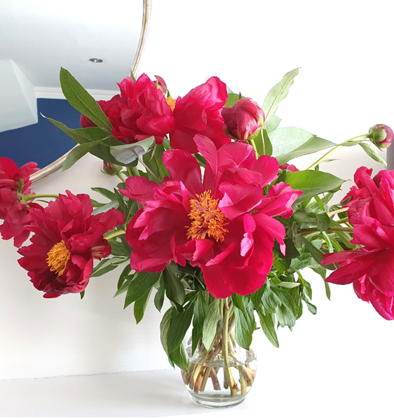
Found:
[[[186,347],[189,372],[182,378],[191,398],[198,405],[224,408],[245,400],[256,377],[256,354],[240,347],[234,337],[235,317],[231,299],[221,302],[222,316],[212,347],[205,349],[202,338],[191,353],[191,338]]]

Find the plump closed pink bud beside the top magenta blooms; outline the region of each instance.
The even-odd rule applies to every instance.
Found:
[[[264,111],[248,97],[238,100],[233,106],[225,107],[222,116],[224,133],[238,141],[248,139],[264,123]]]

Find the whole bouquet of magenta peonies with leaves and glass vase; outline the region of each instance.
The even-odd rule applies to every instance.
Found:
[[[297,74],[285,74],[261,109],[217,77],[174,99],[163,78],[146,74],[95,102],[62,69],[64,96],[82,113],[76,130],[48,118],[79,144],[63,169],[86,153],[101,158],[120,181],[114,190],[92,188],[108,202],[68,190],[36,195],[36,164],[0,158],[0,232],[16,247],[29,239],[19,263],[34,287],[44,298],[83,298],[91,277],[122,265],[116,295],[125,293],[125,307],[134,303],[137,322],[152,291],[159,311],[170,301],[161,342],[202,405],[245,398],[256,374],[255,318],[278,347],[278,327],[292,329],[303,307],[316,313],[306,267],[322,277],[328,298],[329,282],[353,283],[360,299],[394,319],[394,172],[372,178],[360,167],[355,186],[332,204],[344,180],[320,170],[343,146],[384,163],[376,147],[390,146],[393,131],[375,125],[337,145],[278,127],[276,110]],[[322,150],[308,169],[289,164]]]

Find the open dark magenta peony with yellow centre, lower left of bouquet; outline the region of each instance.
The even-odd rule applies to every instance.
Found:
[[[88,286],[93,258],[109,256],[105,232],[124,221],[121,211],[111,209],[92,215],[88,195],[60,195],[43,211],[32,212],[29,231],[32,244],[19,249],[20,265],[29,272],[44,298],[80,293]]]

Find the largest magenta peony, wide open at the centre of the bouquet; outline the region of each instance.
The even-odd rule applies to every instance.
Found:
[[[189,260],[201,267],[215,297],[250,294],[271,269],[274,239],[284,249],[285,228],[273,216],[291,216],[301,192],[278,183],[263,195],[264,186],[278,176],[278,161],[267,155],[256,160],[248,144],[217,150],[201,135],[195,142],[207,160],[203,182],[196,159],[181,150],[163,155],[170,180],[126,180],[122,193],[144,204],[126,231],[133,246],[131,267],[159,272],[171,260],[180,265]]]

